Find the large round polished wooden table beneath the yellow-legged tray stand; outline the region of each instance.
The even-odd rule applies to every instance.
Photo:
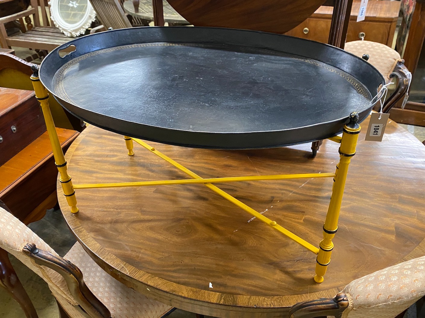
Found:
[[[334,297],[347,283],[425,254],[425,147],[389,122],[382,142],[364,141],[351,160],[335,248],[322,284],[315,255],[203,184],[78,189],[69,227],[113,277],[150,298],[215,317],[285,317],[293,304]],[[334,172],[338,144],[222,151],[148,142],[201,177]],[[135,143],[89,126],[66,153],[74,184],[187,179]],[[216,184],[318,246],[331,178]]]

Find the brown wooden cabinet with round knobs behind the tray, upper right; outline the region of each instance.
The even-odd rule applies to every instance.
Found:
[[[400,2],[390,0],[369,0],[364,21],[356,22],[360,1],[354,0],[348,24],[347,41],[364,39],[392,46],[394,31],[399,16]],[[327,43],[331,28],[332,7],[321,6],[311,17],[291,31],[285,33],[303,39]]]

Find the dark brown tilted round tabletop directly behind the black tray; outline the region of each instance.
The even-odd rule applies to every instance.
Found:
[[[168,0],[184,19],[212,26],[285,33],[306,20],[325,0]]]

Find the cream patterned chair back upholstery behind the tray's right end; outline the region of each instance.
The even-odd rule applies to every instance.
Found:
[[[353,53],[359,57],[368,54],[368,62],[377,68],[384,76],[387,84],[391,82],[390,75],[396,67],[398,61],[401,61],[400,54],[391,47],[382,43],[371,41],[353,41],[345,44],[344,50]]]

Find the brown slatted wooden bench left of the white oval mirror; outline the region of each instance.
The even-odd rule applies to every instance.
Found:
[[[62,45],[72,38],[65,36],[58,28],[49,26],[47,12],[46,12],[46,0],[40,1],[41,6],[41,18],[38,10],[37,0],[31,0],[31,8],[28,8],[19,13],[11,14],[7,17],[0,18],[0,45],[3,48],[11,46],[25,47],[37,50],[53,50],[54,48]],[[30,23],[30,19],[25,19],[27,22],[27,31],[24,33],[14,34],[11,36],[7,35],[5,24],[7,22],[15,21],[24,17],[33,16],[34,26]]]

